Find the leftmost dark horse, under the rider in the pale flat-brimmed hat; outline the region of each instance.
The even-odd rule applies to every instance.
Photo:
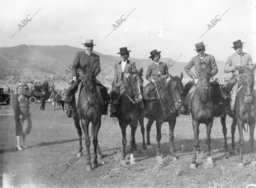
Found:
[[[87,162],[86,162],[86,171],[92,170],[92,164],[90,162],[90,137],[88,133],[88,127],[89,123],[92,122],[92,132],[93,134],[93,140],[92,144],[94,146],[94,154],[95,158],[93,161],[93,168],[97,168],[98,162],[97,157],[102,158],[100,154],[100,149],[97,148],[98,145],[98,131],[100,129],[101,125],[101,115],[102,115],[102,108],[103,104],[100,100],[100,91],[96,87],[96,77],[92,73],[92,70],[90,70],[88,67],[85,67],[85,70],[83,70],[83,84],[81,86],[81,92],[79,94],[78,99],[78,109],[76,108],[75,102],[72,102],[74,114],[73,114],[73,120],[77,129],[77,133],[79,136],[79,150],[78,150],[78,156],[82,155],[82,130],[80,127],[79,121],[81,120],[81,125],[83,128],[83,132],[85,134],[85,145],[87,149]]]

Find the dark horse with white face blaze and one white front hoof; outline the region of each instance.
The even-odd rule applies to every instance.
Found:
[[[140,108],[142,107],[142,92],[143,92],[143,68],[132,74],[129,79],[124,77],[124,91],[120,96],[120,105],[117,107],[117,118],[123,135],[123,151],[122,160],[126,156],[126,128],[130,125],[130,164],[135,164],[133,151],[136,149],[135,145],[135,131],[137,129],[137,121],[140,117]]]

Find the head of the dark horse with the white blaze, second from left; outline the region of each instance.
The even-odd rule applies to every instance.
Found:
[[[143,68],[137,72],[130,72],[131,77],[124,78],[123,81],[126,85],[126,91],[128,96],[133,96],[135,102],[139,103],[142,100],[142,91],[143,91],[143,79],[142,79]],[[132,97],[132,98],[133,98]]]

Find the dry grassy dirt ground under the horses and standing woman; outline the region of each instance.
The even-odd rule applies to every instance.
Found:
[[[62,110],[40,111],[39,103],[31,104],[33,127],[26,138],[28,149],[17,151],[13,110],[9,105],[0,106],[0,173],[4,188],[119,188],[119,187],[172,187],[172,188],[246,188],[256,184],[256,167],[250,166],[249,133],[244,132],[244,167],[237,167],[237,156],[224,158],[224,139],[220,118],[216,118],[211,131],[211,149],[214,166],[206,163],[203,151],[198,153],[197,169],[190,169],[193,150],[191,116],[180,115],[174,129],[175,149],[178,160],[168,160],[168,124],[162,125],[161,153],[156,157],[156,128],[152,125],[150,139],[153,152],[142,153],[142,136],[137,128],[135,139],[139,153],[135,165],[129,160],[120,161],[121,129],[113,118],[103,119],[99,131],[102,159],[99,167],[85,172],[85,140],[83,157],[74,156],[78,151],[78,135],[73,119],[66,118]],[[145,125],[147,119],[145,119]],[[231,118],[227,118],[228,146],[231,151]],[[201,150],[206,149],[205,125],[200,125]],[[126,159],[129,159],[130,128],[126,133]],[[238,130],[235,141],[238,146]],[[255,144],[256,145],[256,144]],[[254,146],[254,149],[256,147]],[[91,140],[90,151],[93,153]],[[93,156],[92,156],[93,157]],[[74,160],[76,159],[76,160]],[[166,163],[168,161],[168,163]],[[165,165],[163,165],[165,164]],[[251,187],[256,187],[251,186]]]

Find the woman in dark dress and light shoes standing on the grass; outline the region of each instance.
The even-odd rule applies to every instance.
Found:
[[[28,99],[24,95],[24,87],[22,85],[17,86],[17,94],[12,98],[12,107],[14,109],[14,119],[16,124],[16,148],[22,150],[22,148],[27,148],[25,145],[25,138],[32,128]],[[20,143],[21,136],[22,144]]]

